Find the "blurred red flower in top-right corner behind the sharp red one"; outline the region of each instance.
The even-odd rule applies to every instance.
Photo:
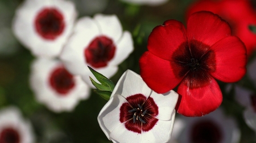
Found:
[[[256,25],[256,11],[248,0],[201,0],[188,8],[187,17],[197,11],[211,11],[228,21],[232,34],[238,36],[251,55],[256,49],[256,34],[250,31],[249,25]]]

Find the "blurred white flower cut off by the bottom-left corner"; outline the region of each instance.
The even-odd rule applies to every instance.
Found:
[[[35,142],[30,122],[24,120],[16,107],[0,110],[0,142]]]

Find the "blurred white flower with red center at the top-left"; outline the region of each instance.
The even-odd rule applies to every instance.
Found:
[[[16,10],[14,34],[34,55],[56,57],[72,32],[76,15],[70,1],[26,0]]]

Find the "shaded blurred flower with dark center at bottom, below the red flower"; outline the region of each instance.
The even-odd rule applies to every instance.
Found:
[[[220,108],[202,117],[184,116],[183,120],[185,128],[179,136],[180,143],[237,143],[240,141],[240,130],[236,120],[224,116]]]

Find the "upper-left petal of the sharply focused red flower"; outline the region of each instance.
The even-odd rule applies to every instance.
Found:
[[[170,60],[171,55],[187,40],[185,27],[180,21],[167,20],[153,29],[148,37],[147,49],[157,57]]]

